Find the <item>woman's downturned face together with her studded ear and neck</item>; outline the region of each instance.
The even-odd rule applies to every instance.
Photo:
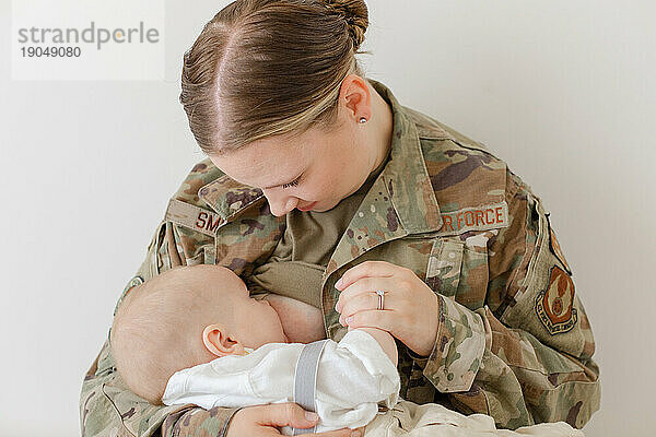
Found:
[[[360,123],[361,117],[367,122]],[[383,162],[391,123],[391,109],[376,90],[349,74],[340,85],[331,132],[266,138],[210,160],[236,181],[260,188],[273,215],[294,208],[324,212],[358,191]]]

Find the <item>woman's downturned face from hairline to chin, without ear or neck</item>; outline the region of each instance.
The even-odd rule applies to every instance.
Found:
[[[271,137],[210,158],[231,178],[260,188],[273,215],[294,208],[328,211],[375,168],[376,154],[366,145],[367,123],[347,118],[331,133],[311,129],[294,139]]]

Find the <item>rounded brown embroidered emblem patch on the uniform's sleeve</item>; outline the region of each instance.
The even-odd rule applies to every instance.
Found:
[[[567,332],[576,324],[574,282],[558,265],[549,270],[549,284],[536,298],[536,312],[550,334]]]

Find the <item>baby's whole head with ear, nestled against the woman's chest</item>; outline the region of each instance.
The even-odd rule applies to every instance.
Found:
[[[178,370],[286,340],[267,300],[249,297],[230,269],[207,264],[175,268],[132,288],[109,336],[121,378],[153,404]]]

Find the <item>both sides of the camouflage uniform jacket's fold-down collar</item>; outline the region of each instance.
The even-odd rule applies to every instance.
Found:
[[[414,121],[387,86],[373,79],[367,81],[391,106],[394,131],[389,160],[349,225],[349,228],[358,228],[371,227],[372,221],[380,223],[378,243],[370,239],[371,245],[361,247],[364,250],[391,238],[434,232],[442,226]],[[231,221],[263,199],[260,189],[238,184],[225,175],[201,187],[198,197],[224,221]]]

